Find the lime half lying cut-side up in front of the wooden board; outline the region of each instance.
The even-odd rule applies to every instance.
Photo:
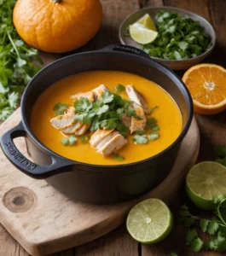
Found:
[[[172,214],[159,199],[148,199],[133,207],[126,220],[126,227],[136,241],[152,244],[162,241],[171,232]]]

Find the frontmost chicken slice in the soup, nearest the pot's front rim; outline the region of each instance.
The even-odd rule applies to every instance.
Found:
[[[116,153],[119,149],[123,148],[127,140],[121,134],[114,136],[109,142],[105,143],[97,152],[102,156]]]

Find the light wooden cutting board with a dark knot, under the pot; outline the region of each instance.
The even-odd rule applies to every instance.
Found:
[[[0,135],[19,122],[20,109],[0,126]],[[22,154],[26,154],[24,138],[17,138],[15,144]],[[163,183],[147,195],[116,205],[73,201],[61,195],[46,180],[36,180],[20,172],[0,150],[0,222],[28,253],[35,256],[94,240],[122,224],[127,212],[138,201],[158,197],[171,203],[180,193],[199,148],[199,129],[193,119],[177,162]]]

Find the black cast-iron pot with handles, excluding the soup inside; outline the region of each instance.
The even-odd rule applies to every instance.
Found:
[[[97,166],[68,160],[46,148],[33,135],[29,121],[34,102],[51,84],[75,73],[119,70],[134,73],[159,84],[174,98],[183,117],[177,140],[146,160],[120,166]],[[150,90],[150,93],[152,91]],[[141,51],[125,45],[69,55],[44,67],[27,85],[21,101],[21,122],[1,137],[4,154],[20,171],[48,183],[79,201],[113,203],[142,195],[159,184],[171,171],[178,149],[193,117],[192,99],[182,80]],[[169,117],[173,122],[173,116]],[[13,139],[25,137],[32,161],[20,154]]]

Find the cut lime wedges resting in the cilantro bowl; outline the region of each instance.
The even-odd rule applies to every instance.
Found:
[[[158,32],[154,21],[147,14],[133,25],[130,25],[130,37],[139,44],[152,43],[157,38]]]

